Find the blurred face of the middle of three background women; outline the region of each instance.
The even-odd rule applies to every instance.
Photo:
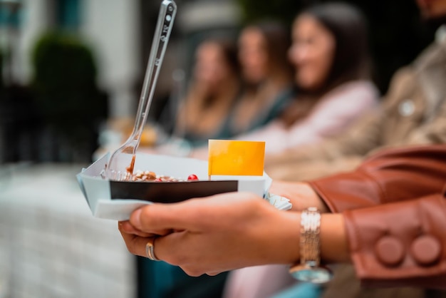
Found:
[[[239,37],[239,61],[244,79],[259,83],[266,78],[268,53],[266,41],[258,29],[244,29]]]

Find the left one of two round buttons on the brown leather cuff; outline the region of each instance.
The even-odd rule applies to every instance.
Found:
[[[405,256],[404,245],[396,237],[384,236],[375,244],[375,255],[385,266],[396,266]]]

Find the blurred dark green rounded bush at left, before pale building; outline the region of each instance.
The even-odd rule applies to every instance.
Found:
[[[90,158],[108,112],[107,96],[96,83],[92,50],[76,35],[52,31],[38,38],[31,63],[31,88],[44,123],[73,150],[83,146]]]

